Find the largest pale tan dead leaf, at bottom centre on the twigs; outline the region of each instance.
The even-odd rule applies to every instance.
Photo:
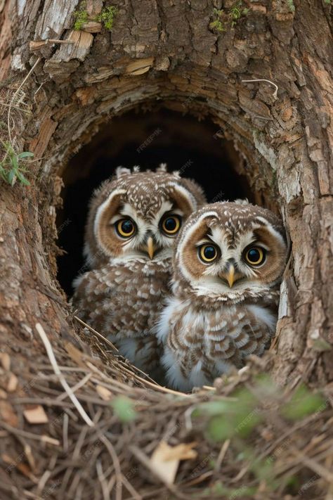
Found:
[[[193,448],[196,443],[181,443],[174,447],[161,441],[150,458],[152,470],[169,485],[174,483],[179,462],[195,459],[197,451]]]

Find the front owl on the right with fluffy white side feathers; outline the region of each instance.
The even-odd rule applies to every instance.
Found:
[[[172,297],[157,337],[169,386],[211,385],[261,356],[274,335],[287,244],[280,219],[247,202],[194,212],[175,246]]]

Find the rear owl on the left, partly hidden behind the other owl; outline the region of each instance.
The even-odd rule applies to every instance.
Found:
[[[166,165],[119,167],[91,199],[84,248],[91,269],[74,280],[74,307],[151,376],[160,361],[152,328],[169,295],[174,240],[204,202],[195,181]]]

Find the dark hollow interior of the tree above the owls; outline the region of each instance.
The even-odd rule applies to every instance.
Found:
[[[84,265],[84,225],[93,190],[119,165],[146,170],[161,162],[199,182],[209,202],[245,197],[252,201],[246,179],[236,172],[244,160],[211,120],[166,109],[133,110],[113,118],[63,172],[63,209],[57,224],[58,246],[64,253],[58,257],[58,280],[68,296]]]

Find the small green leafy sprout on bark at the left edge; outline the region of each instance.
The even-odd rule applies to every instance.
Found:
[[[16,153],[11,143],[2,142],[4,148],[4,158],[0,160],[0,177],[10,186],[14,186],[16,179],[25,186],[30,186],[30,182],[25,177],[27,165],[25,162],[34,156],[30,151]]]

